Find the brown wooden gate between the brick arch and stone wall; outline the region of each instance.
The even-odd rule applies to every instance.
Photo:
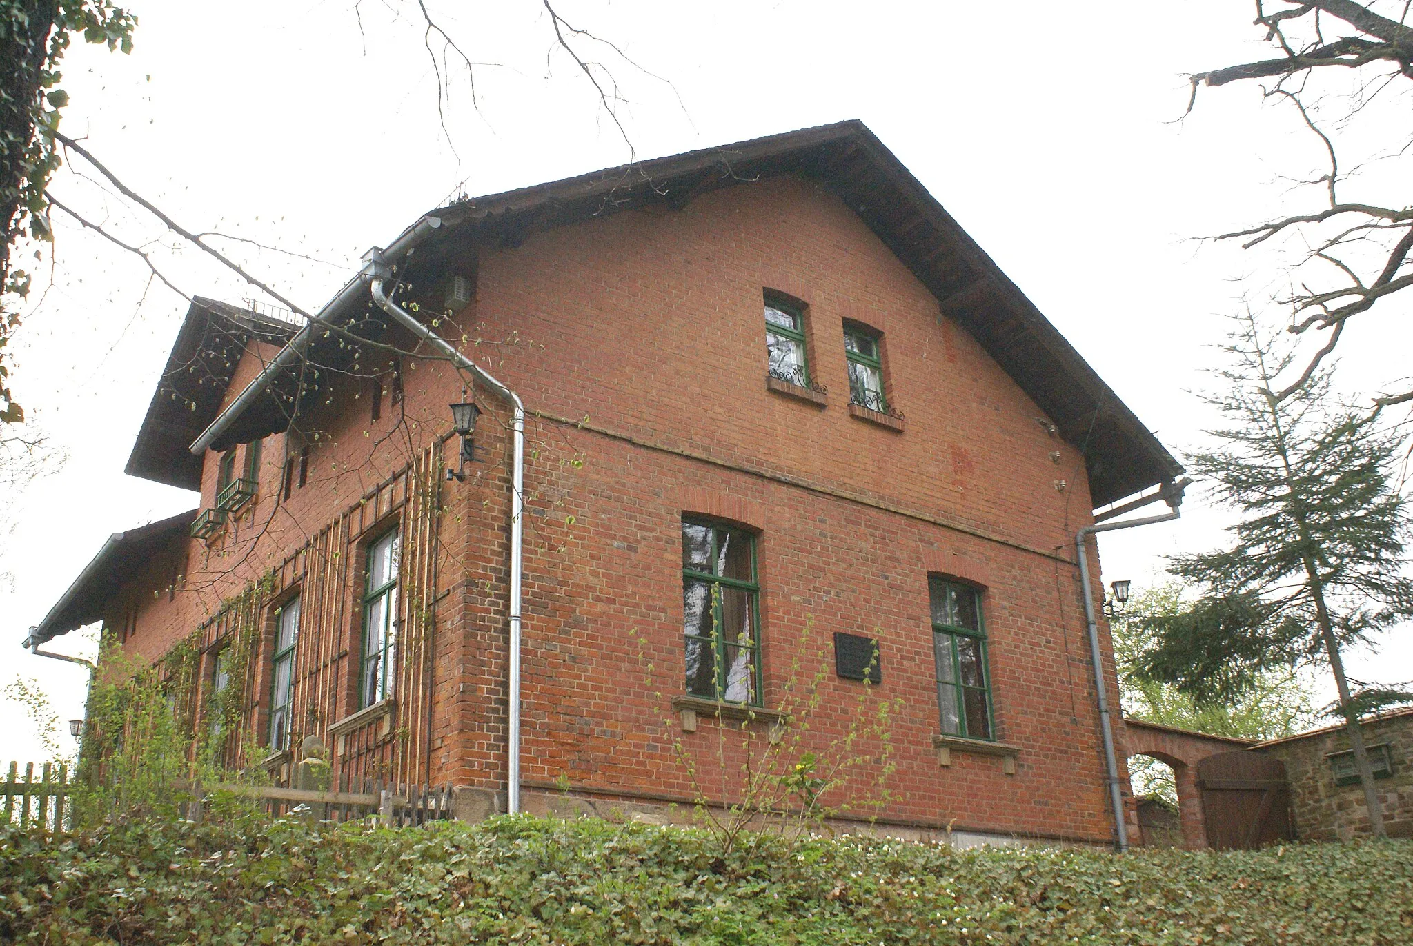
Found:
[[[1258,752],[1219,752],[1197,764],[1207,844],[1253,850],[1293,837],[1286,764]]]

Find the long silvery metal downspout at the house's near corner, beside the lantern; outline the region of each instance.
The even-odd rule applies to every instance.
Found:
[[[512,428],[514,430],[514,464],[510,477],[510,747],[506,785],[506,810],[520,812],[520,597],[524,564],[524,471],[526,471],[526,406],[520,396],[487,375],[473,361],[462,355],[447,339],[422,325],[383,293],[383,257],[376,255],[370,262],[369,279],[373,301],[391,315],[403,328],[447,355],[454,365],[472,372],[514,409]]]

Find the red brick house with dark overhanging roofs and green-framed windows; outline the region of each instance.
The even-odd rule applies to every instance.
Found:
[[[28,643],[194,639],[277,775],[650,816],[807,635],[820,740],[901,701],[883,824],[1108,843],[1075,536],[1181,469],[846,122],[441,208],[308,325],[196,300],[127,472],[201,501]]]

